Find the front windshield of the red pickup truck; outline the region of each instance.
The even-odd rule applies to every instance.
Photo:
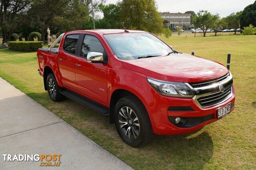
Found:
[[[168,55],[172,49],[150,33],[106,34],[104,38],[120,60]]]

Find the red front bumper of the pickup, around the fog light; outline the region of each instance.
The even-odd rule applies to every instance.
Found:
[[[229,103],[234,104],[235,92],[233,90],[232,96],[228,100],[210,107],[200,107],[191,98],[174,98],[160,94],[155,95],[155,102],[154,107],[151,107],[149,112],[154,133],[158,135],[178,135],[196,131],[205,125],[217,121],[216,110]],[[168,109],[170,107],[187,107],[191,109],[177,111],[175,109]],[[234,108],[234,106],[231,107],[231,111]],[[185,117],[189,118],[190,121],[187,126],[178,127],[173,122],[173,117]]]

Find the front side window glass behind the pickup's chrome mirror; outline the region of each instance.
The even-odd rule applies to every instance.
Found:
[[[87,54],[90,52],[96,52],[96,53],[104,53],[104,48],[102,47],[100,41],[92,36],[92,35],[85,35],[84,42],[82,45],[82,51],[81,56],[87,57]]]

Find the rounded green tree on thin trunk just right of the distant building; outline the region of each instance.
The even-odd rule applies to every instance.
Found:
[[[193,22],[195,27],[200,27],[204,33],[204,37],[206,37],[206,30],[212,28],[216,18],[208,12],[201,10],[197,13],[197,15],[193,18]]]

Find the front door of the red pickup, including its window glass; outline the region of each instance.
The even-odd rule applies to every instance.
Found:
[[[88,63],[89,52],[104,53],[104,47],[97,37],[85,35],[82,42],[81,57],[78,57],[76,66],[76,82],[78,92],[101,104],[108,104],[107,98],[107,70],[108,66],[102,63]]]

